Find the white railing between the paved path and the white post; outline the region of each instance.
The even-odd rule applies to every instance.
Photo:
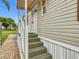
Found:
[[[27,28],[27,19],[24,19],[22,17],[19,21],[18,24],[18,30],[17,30],[17,43],[18,43],[18,48],[20,52],[21,59],[26,59],[26,46],[27,46],[27,39],[28,38],[28,31],[26,30]]]

